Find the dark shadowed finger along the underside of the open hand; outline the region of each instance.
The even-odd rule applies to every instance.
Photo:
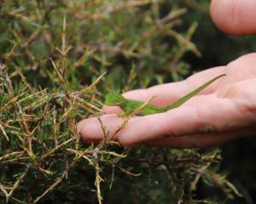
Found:
[[[256,128],[241,128],[236,131],[223,133],[201,133],[183,137],[169,137],[166,139],[152,140],[145,144],[149,146],[164,146],[172,148],[206,148],[225,144],[232,139],[255,135]]]

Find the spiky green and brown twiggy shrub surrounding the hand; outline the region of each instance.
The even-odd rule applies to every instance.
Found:
[[[253,138],[125,151],[104,124],[101,144],[76,131],[109,90],[182,80],[253,52],[254,37],[213,26],[209,3],[0,1],[0,203],[253,203]]]

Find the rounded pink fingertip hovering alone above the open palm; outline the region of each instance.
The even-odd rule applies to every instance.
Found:
[[[256,32],[255,0],[212,0],[212,20],[218,28],[233,35]]]

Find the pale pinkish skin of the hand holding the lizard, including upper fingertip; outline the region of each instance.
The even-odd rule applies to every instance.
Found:
[[[211,14],[223,31],[236,34],[256,32],[256,1],[215,0]],[[253,20],[251,20],[253,19]],[[230,21],[229,21],[230,20]],[[247,23],[241,23],[247,22]],[[164,106],[207,82],[212,76],[226,74],[201,94],[165,113],[133,116],[114,138],[125,147],[136,144],[175,148],[207,147],[256,133],[256,53],[247,54],[228,65],[201,71],[183,82],[172,82],[152,88],[125,93],[125,98],[146,101],[158,97],[152,104]],[[118,107],[103,107],[103,124],[112,135],[123,119]],[[79,133],[85,142],[103,138],[97,118],[79,122]]]

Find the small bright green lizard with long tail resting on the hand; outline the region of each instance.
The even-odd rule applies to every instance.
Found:
[[[119,106],[124,112],[121,116],[129,116],[134,110],[137,108],[142,107],[141,110],[137,112],[137,116],[148,116],[151,114],[156,113],[163,113],[169,110],[172,110],[174,108],[177,108],[180,105],[183,105],[187,100],[189,100],[191,97],[195,96],[195,94],[198,94],[203,90],[204,88],[207,88],[212,82],[215,82],[218,78],[224,77],[225,74],[219,75],[218,77],[212,78],[210,81],[205,82],[200,87],[195,88],[192,92],[189,94],[184,95],[182,98],[177,99],[177,101],[174,101],[170,105],[166,105],[164,107],[158,107],[156,105],[147,104],[144,105],[143,101],[138,101],[134,99],[125,99],[124,96],[118,93],[109,93],[106,95],[105,99],[105,105],[116,105]]]

